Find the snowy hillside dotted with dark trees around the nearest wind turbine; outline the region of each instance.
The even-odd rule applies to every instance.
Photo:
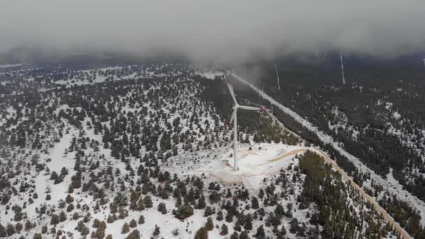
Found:
[[[274,117],[238,115],[232,171],[222,77],[188,64],[4,68],[0,237],[396,238]]]

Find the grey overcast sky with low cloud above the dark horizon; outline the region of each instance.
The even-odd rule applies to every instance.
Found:
[[[424,0],[3,0],[0,51],[16,45],[179,50],[231,59],[282,50],[423,50]]]

